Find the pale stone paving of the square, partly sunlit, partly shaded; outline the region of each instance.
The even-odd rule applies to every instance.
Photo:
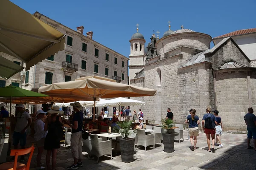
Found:
[[[184,138],[187,131],[184,131]],[[223,147],[215,146],[215,153],[207,152],[206,136],[200,133],[198,136],[197,149],[190,150],[190,142],[185,139],[184,142],[175,142],[175,152],[165,153],[163,146],[156,145],[156,148],[144,147],[138,149],[134,154],[134,161],[124,163],[121,161],[120,154],[110,157],[102,156],[97,164],[96,158],[87,159],[87,153],[84,153],[83,170],[256,170],[256,151],[247,149],[247,136],[244,134],[224,133],[221,136]],[[28,139],[30,144],[32,138]],[[253,145],[251,141],[251,145]],[[27,145],[29,146],[29,144]],[[35,158],[37,149],[33,154],[31,169],[35,168]],[[45,154],[42,162],[45,163]],[[25,158],[25,160],[27,157]],[[58,151],[57,169],[63,170],[73,163],[69,147],[61,147]]]

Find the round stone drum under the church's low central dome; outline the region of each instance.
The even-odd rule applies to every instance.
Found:
[[[196,32],[172,34],[157,41],[157,51],[158,54],[163,55],[181,46],[205,51],[210,48],[210,42],[211,38],[207,34]]]

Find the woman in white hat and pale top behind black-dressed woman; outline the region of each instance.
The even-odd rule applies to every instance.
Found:
[[[46,112],[39,110],[35,115],[35,141],[38,147],[38,155],[36,157],[36,168],[35,169],[45,169],[45,167],[41,166],[41,157],[44,151],[44,139],[47,135],[47,131],[44,131],[44,122],[42,119],[44,118],[44,114]]]

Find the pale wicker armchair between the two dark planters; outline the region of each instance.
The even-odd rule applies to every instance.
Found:
[[[147,146],[150,145],[153,145],[154,148],[154,134],[146,135],[144,129],[137,129],[137,136],[138,142],[136,149],[138,148],[138,146],[144,146],[146,151]]]

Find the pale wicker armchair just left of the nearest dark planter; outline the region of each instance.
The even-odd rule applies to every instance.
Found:
[[[92,150],[89,155],[89,159],[91,155],[97,156],[97,163],[99,162],[99,157],[103,155],[111,155],[112,159],[112,147],[111,140],[99,142],[98,135],[90,134],[91,146]]]

